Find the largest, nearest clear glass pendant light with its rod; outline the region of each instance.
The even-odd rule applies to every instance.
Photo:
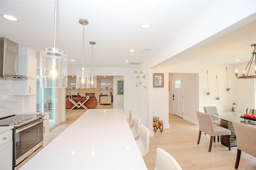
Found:
[[[56,39],[56,8],[54,10],[54,47],[44,48],[40,52],[40,87],[67,87],[68,60],[65,51],[55,47]]]

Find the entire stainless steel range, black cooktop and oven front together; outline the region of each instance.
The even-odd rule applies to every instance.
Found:
[[[36,115],[10,115],[0,118],[1,126],[14,126],[13,139],[13,170],[20,168],[43,147],[43,117]]]

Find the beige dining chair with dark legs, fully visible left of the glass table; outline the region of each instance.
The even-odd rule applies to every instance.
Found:
[[[210,137],[210,145],[209,145],[208,151],[211,152],[213,137],[228,135],[228,150],[231,150],[231,148],[230,148],[231,131],[224,127],[214,125],[212,123],[211,115],[209,115],[209,114],[205,114],[205,113],[196,111],[196,115],[197,115],[198,123],[199,123],[199,134],[198,134],[197,144],[199,144],[199,142],[200,142],[201,132],[204,132],[204,133],[210,135],[211,137]]]

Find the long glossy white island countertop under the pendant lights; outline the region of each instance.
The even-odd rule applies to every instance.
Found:
[[[147,169],[122,109],[88,109],[20,170]]]

